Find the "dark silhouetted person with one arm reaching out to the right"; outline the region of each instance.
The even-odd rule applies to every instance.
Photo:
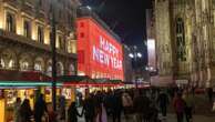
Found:
[[[78,116],[82,116],[76,106],[75,106],[75,102],[72,102],[69,106],[69,110],[68,110],[68,122],[78,122]]]

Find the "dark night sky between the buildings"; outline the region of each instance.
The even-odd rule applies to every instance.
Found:
[[[121,37],[127,45],[137,45],[146,64],[147,50],[145,9],[151,8],[151,0],[82,0],[90,6],[106,24]]]

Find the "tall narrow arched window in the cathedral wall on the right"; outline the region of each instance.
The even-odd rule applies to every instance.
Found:
[[[176,47],[177,47],[177,60],[186,61],[184,21],[182,18],[177,18],[176,20]]]

